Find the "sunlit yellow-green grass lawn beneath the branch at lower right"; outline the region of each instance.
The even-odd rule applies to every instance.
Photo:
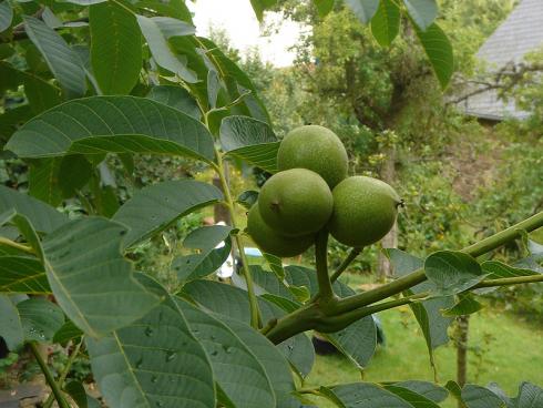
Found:
[[[387,347],[379,348],[363,373],[368,381],[433,380],[426,343],[409,308],[379,314]],[[516,395],[523,380],[543,385],[543,327],[519,316],[484,309],[470,320],[469,381],[498,382],[508,394]],[[440,382],[455,378],[455,350],[450,344],[438,348],[436,361]],[[360,380],[361,375],[339,356],[317,357],[306,386],[332,385]],[[318,407],[335,407],[318,399]],[[448,401],[444,407],[454,407]]]

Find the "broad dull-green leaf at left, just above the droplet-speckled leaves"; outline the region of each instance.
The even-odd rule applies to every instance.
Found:
[[[120,252],[126,230],[111,221],[71,221],[43,239],[57,302],[85,334],[99,337],[140,318],[158,298],[145,290]]]

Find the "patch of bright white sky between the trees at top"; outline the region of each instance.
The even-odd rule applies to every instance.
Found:
[[[262,30],[249,0],[197,0],[187,2],[195,13],[194,23],[198,35],[206,37],[209,27],[226,31],[230,43],[242,54],[257,47],[264,61],[276,67],[290,65],[296,57],[293,47],[299,38],[299,26],[293,21],[283,20],[278,13],[267,12],[266,21],[277,24],[279,31],[270,37],[260,35]]]

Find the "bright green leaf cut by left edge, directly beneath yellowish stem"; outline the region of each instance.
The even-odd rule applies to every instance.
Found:
[[[38,259],[0,256],[0,292],[49,295],[51,288],[43,265]]]

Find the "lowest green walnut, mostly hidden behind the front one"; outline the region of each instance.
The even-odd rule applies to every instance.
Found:
[[[263,252],[279,257],[290,257],[303,254],[314,243],[314,235],[289,237],[272,230],[262,218],[258,203],[253,205],[249,210],[247,232]]]

